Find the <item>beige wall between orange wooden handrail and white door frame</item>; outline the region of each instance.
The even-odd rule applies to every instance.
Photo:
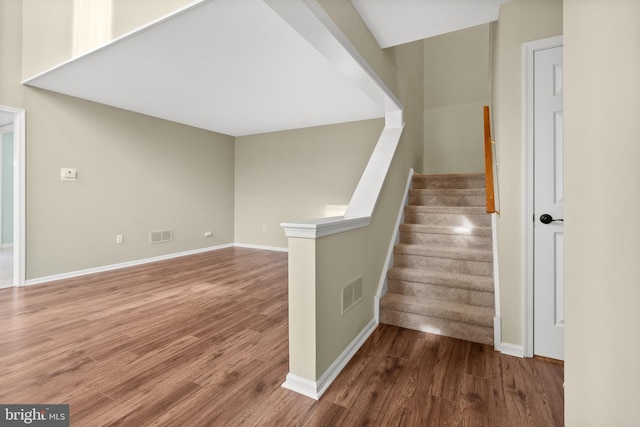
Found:
[[[523,344],[522,44],[562,34],[562,1],[512,0],[500,7],[494,57],[493,123],[500,216],[498,257],[502,341]]]

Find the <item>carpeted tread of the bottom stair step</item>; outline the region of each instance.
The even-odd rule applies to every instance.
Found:
[[[387,293],[380,308],[448,319],[483,327],[493,327],[493,309],[452,301],[417,299],[407,295]]]

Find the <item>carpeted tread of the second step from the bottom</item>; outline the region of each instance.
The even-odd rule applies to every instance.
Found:
[[[493,293],[493,279],[486,276],[432,271],[411,267],[392,267],[389,269],[387,277],[391,280],[426,283]]]

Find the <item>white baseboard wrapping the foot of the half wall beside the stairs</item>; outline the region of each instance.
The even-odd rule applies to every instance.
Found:
[[[347,363],[353,358],[356,352],[362,347],[367,338],[373,333],[378,326],[376,319],[371,319],[369,323],[360,331],[358,336],[351,341],[351,344],[338,356],[338,358],[329,366],[329,368],[322,374],[318,381],[312,381],[307,378],[300,377],[298,375],[289,372],[287,379],[282,387],[289,390],[300,393],[304,396],[318,400],[329,386],[335,381],[340,372],[347,366]]]

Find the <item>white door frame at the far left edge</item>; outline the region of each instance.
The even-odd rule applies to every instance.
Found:
[[[25,110],[0,105],[0,112],[13,114],[13,284],[25,282]]]

